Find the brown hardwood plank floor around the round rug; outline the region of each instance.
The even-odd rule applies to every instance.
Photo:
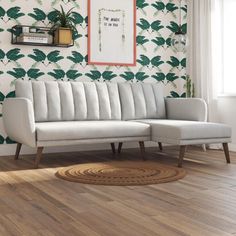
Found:
[[[177,165],[179,150],[146,149],[149,160]],[[188,148],[177,182],[138,187],[93,186],[55,177],[59,167],[108,159],[140,160],[139,149],[0,158],[0,235],[236,235],[236,153]]]

